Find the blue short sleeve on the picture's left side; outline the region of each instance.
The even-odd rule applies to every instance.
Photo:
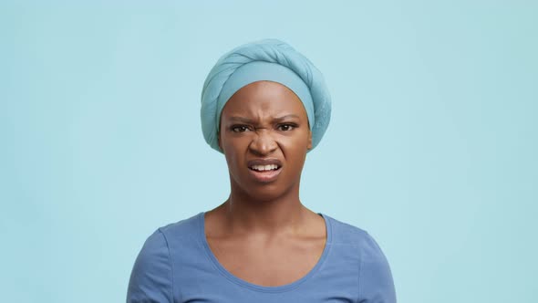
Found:
[[[172,302],[169,247],[160,230],[146,240],[129,278],[127,303]]]

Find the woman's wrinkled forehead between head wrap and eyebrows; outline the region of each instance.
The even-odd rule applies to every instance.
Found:
[[[222,119],[235,115],[264,117],[283,113],[307,119],[303,102],[291,89],[273,81],[257,81],[233,94],[222,109]]]

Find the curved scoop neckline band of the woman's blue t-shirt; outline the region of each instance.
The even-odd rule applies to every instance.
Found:
[[[217,257],[212,253],[212,250],[209,247],[209,243],[207,242],[207,239],[205,237],[205,212],[202,212],[202,213],[198,214],[198,217],[197,217],[196,221],[198,223],[198,237],[200,238],[200,240],[202,242],[203,250],[204,250],[206,256],[208,256],[208,258],[212,261],[213,266],[215,266],[215,268],[222,274],[222,276],[226,277],[228,280],[232,281],[233,283],[235,283],[235,284],[237,284],[237,285],[239,285],[241,287],[247,287],[247,288],[257,290],[257,291],[261,291],[261,292],[273,292],[273,293],[276,293],[276,292],[288,291],[288,290],[294,289],[295,287],[298,287],[299,285],[303,284],[310,277],[314,276],[316,274],[316,272],[319,271],[319,268],[325,262],[326,257],[328,255],[330,247],[331,247],[331,243],[332,243],[332,226],[331,226],[329,217],[326,214],[321,214],[321,213],[318,213],[318,214],[321,215],[324,218],[325,225],[326,225],[326,245],[323,248],[323,253],[321,254],[319,259],[317,260],[316,265],[314,267],[312,267],[312,269],[310,269],[310,271],[308,273],[306,273],[305,276],[295,280],[292,283],[288,283],[288,284],[281,285],[281,286],[278,286],[278,287],[264,287],[264,286],[261,286],[261,285],[257,285],[257,284],[247,282],[247,281],[243,280],[240,277],[234,276],[231,272],[228,271],[228,269],[224,268],[224,266],[221,265],[221,263],[219,262]]]

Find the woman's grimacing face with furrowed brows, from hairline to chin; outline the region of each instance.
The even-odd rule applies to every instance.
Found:
[[[232,190],[272,200],[299,190],[312,134],[295,93],[272,81],[239,89],[222,109],[219,132]]]

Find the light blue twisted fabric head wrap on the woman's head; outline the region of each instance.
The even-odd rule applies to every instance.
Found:
[[[312,131],[312,148],[321,141],[331,118],[331,98],[321,72],[294,48],[276,39],[236,47],[210,71],[202,89],[202,132],[205,141],[218,143],[221,113],[233,94],[261,80],[285,85],[303,102]]]

